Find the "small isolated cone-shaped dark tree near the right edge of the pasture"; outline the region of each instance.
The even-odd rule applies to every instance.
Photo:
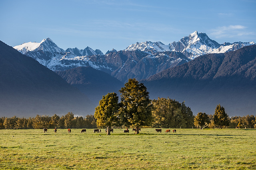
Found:
[[[222,129],[223,126],[229,125],[228,115],[226,114],[224,107],[220,106],[220,104],[215,109],[213,121],[214,125],[220,126],[220,129]]]

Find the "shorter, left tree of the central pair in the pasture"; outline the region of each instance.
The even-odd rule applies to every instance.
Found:
[[[107,135],[110,135],[111,125],[118,120],[118,109],[118,96],[114,92],[103,96],[99,106],[95,108],[94,117],[97,119],[97,125],[99,127],[106,127]]]

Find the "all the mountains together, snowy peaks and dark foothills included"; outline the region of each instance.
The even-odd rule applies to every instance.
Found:
[[[0,115],[93,114],[129,78],[143,82],[151,99],[185,101],[194,114],[213,114],[221,104],[229,116],[255,115],[254,44],[218,44],[197,31],[177,43],[146,41],[105,55],[90,47],[64,51],[50,38],[14,49],[1,42]]]

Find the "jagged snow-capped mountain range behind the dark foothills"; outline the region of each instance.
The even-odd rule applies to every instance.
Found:
[[[91,66],[109,73],[122,82],[129,78],[142,80],[164,69],[186,63],[200,55],[234,51],[254,42],[219,44],[210,39],[206,33],[195,31],[178,42],[164,45],[161,42],[142,42],[130,45],[124,50],[112,49],[105,55],[90,47],[84,50],[59,48],[50,38],[40,43],[24,43],[15,46],[22,54],[36,59],[51,70],[62,71],[78,66]]]

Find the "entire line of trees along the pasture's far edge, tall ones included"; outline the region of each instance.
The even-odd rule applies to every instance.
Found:
[[[116,93],[108,93],[99,101],[94,115],[75,117],[68,112],[58,115],[18,118],[0,118],[0,129],[43,129],[43,128],[256,128],[254,115],[228,117],[224,107],[218,105],[214,115],[193,115],[190,107],[170,98],[150,100],[144,84],[129,79],[121,90],[121,102]]]

